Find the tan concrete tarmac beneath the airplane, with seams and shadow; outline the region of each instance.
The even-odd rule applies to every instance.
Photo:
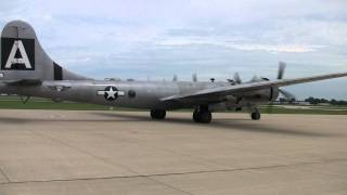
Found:
[[[0,195],[347,194],[347,116],[0,110]]]

